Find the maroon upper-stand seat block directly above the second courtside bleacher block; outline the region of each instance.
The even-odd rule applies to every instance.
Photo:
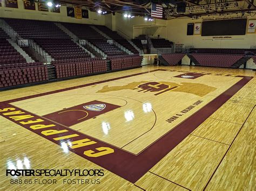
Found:
[[[71,39],[37,38],[35,42],[40,45],[55,60],[89,58],[90,54],[79,47]]]

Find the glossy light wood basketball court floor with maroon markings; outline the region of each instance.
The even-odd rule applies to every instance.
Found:
[[[0,189],[255,190],[255,105],[254,71],[193,66],[1,91]],[[11,177],[6,169],[104,175]]]

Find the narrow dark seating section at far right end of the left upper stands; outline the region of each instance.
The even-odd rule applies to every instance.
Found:
[[[125,38],[120,36],[116,31],[112,31],[109,28],[107,28],[106,26],[102,26],[102,25],[95,25],[95,27],[97,27],[97,29],[99,29],[100,31],[104,32],[107,36],[109,36],[111,39],[113,39],[114,41],[116,41],[120,45],[122,45],[125,48],[129,49],[129,51],[131,51],[132,53],[139,54],[137,49],[134,48],[129,43],[129,41],[127,41]]]

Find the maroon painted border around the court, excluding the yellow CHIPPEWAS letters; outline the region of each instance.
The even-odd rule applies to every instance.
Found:
[[[151,70],[150,72],[156,72],[158,70],[166,70],[166,69],[156,69]],[[32,97],[39,97],[43,95],[49,95],[58,93],[61,91],[76,89],[80,87],[86,87],[91,86],[99,83],[104,83],[108,81],[123,79],[126,77],[136,76],[136,75],[142,75],[150,72],[143,72],[143,73],[137,73],[132,75],[126,75],[123,77],[117,77],[114,79],[109,80],[103,80],[95,83],[88,83],[81,86],[71,87],[71,88],[65,88],[62,90],[56,90],[56,91],[50,91],[48,93],[42,93],[37,95],[31,95],[26,96],[22,98],[16,98],[9,101],[0,102],[0,109],[3,108],[17,108],[11,105],[10,103],[26,100],[28,98]],[[185,73],[185,72],[184,72]],[[122,178],[135,183],[137,180],[139,180],[147,171],[149,171],[154,165],[157,164],[158,161],[160,161],[167,153],[169,153],[174,147],[176,147],[182,140],[184,140],[188,135],[190,135],[191,132],[193,132],[201,123],[203,123],[210,115],[213,114],[217,109],[221,107],[226,101],[228,101],[237,91],[239,91],[242,87],[245,86],[246,83],[248,83],[253,77],[251,76],[237,76],[242,77],[242,79],[235,83],[231,88],[224,91],[223,94],[219,95],[218,97],[214,98],[213,101],[206,104],[203,108],[201,108],[199,111],[194,113],[192,116],[188,117],[185,121],[181,122],[179,125],[176,126],[176,128],[170,130],[167,132],[163,137],[159,138],[156,142],[152,143],[149,147],[147,147],[144,151],[140,152],[138,155],[132,154],[130,152],[126,152],[118,147],[114,147],[113,145],[110,145],[108,143],[102,142],[101,140],[95,139],[93,137],[87,136],[83,133],[77,132],[75,130],[72,130],[66,126],[57,124],[55,122],[50,121],[49,119],[43,118],[42,116],[37,116],[35,114],[32,114],[28,111],[25,111],[23,109],[17,108],[18,110],[26,112],[26,115],[31,114],[33,116],[36,116],[37,118],[43,118],[45,122],[48,122],[49,124],[56,124],[56,130],[58,129],[67,129],[70,133],[76,133],[79,135],[79,137],[73,137],[70,138],[69,141],[73,142],[75,140],[80,140],[83,138],[90,138],[91,140],[97,142],[97,146],[107,146],[110,148],[113,148],[114,153],[103,155],[99,158],[91,158],[84,155],[84,147],[79,147],[76,149],[69,148],[71,152],[76,153],[80,155],[80,157],[83,157],[87,160],[92,161],[93,163],[107,169],[108,171],[113,172],[114,174],[117,174],[121,176]],[[13,119],[10,119],[8,116],[2,115],[0,112],[0,115],[9,119],[10,121],[23,126],[24,128],[37,133],[38,135],[49,139],[51,142],[56,143],[58,145],[61,145],[63,141],[56,141],[53,140],[53,136],[44,136],[41,133],[41,130],[31,130],[29,128],[29,125],[21,125],[17,121],[14,121]],[[65,133],[60,134],[59,137],[65,136]],[[56,136],[55,136],[56,137]],[[91,149],[93,150],[95,147],[94,145],[86,146],[86,150]]]

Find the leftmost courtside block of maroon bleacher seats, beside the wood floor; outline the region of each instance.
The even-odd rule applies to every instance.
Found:
[[[43,63],[16,63],[0,65],[0,88],[48,80]]]

